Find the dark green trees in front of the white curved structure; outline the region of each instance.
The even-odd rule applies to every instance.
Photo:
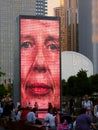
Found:
[[[98,74],[87,77],[87,72],[80,70],[65,83],[62,81],[63,96],[79,97],[85,94],[92,95],[94,92],[98,92]]]

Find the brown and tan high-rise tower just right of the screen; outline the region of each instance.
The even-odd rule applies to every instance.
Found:
[[[61,50],[78,51],[78,0],[61,0],[55,15],[61,18]]]

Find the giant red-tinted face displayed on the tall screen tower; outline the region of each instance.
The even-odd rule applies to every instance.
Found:
[[[21,105],[60,108],[59,21],[20,19]]]

